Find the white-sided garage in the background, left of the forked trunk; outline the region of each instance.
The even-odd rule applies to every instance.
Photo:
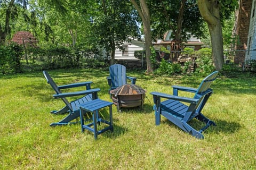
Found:
[[[131,43],[124,43],[124,45],[128,46],[128,55],[123,55],[122,50],[116,49],[115,60],[139,60],[135,58],[134,52],[145,49],[144,42],[138,40],[132,40]]]

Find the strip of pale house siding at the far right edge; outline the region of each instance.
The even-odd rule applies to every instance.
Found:
[[[256,60],[256,6],[255,1],[252,1],[251,19],[247,40],[247,52],[245,54],[245,60]],[[253,16],[254,11],[254,16]]]

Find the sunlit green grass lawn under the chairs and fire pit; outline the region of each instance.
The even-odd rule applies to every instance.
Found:
[[[49,71],[58,85],[93,81],[110,101],[107,70]],[[42,72],[0,77],[0,169],[256,169],[256,79],[249,73],[220,74],[203,113],[217,126],[198,140],[162,117],[155,126],[151,91],[172,94],[171,85],[197,88],[203,77],[152,77],[129,72],[147,90],[140,108],[113,107],[114,132],[94,140],[80,124],[49,126],[65,115]],[[78,88],[79,89],[79,88]],[[80,88],[81,89],[81,88]],[[180,94],[180,95],[186,95]],[[106,111],[101,111],[104,114]],[[191,124],[197,126],[197,121]]]

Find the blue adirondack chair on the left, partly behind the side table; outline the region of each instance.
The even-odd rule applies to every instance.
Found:
[[[76,118],[80,117],[79,106],[88,101],[97,99],[98,98],[97,92],[100,91],[100,89],[99,88],[91,89],[91,83],[92,83],[91,81],[57,86],[57,84],[52,80],[51,76],[49,75],[49,73],[47,73],[47,71],[43,71],[43,74],[45,79],[47,80],[47,83],[49,83],[53,88],[53,90],[56,92],[56,94],[53,95],[53,97],[55,99],[61,98],[63,102],[66,104],[66,106],[61,108],[59,111],[51,111],[51,113],[53,114],[69,113],[61,121],[57,123],[52,123],[51,126],[79,123],[79,122],[72,122]],[[61,89],[69,89],[69,88],[82,87],[82,86],[85,86],[86,90],[66,92],[66,93],[61,92]],[[69,102],[67,97],[74,97],[74,96],[82,96],[82,97],[79,97],[78,99]]]

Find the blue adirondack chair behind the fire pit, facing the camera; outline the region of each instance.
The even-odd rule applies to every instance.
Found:
[[[126,68],[121,64],[114,64],[109,67],[108,85],[109,91],[123,86],[127,83],[127,79],[131,80],[131,84],[135,84],[137,78],[126,75]]]

